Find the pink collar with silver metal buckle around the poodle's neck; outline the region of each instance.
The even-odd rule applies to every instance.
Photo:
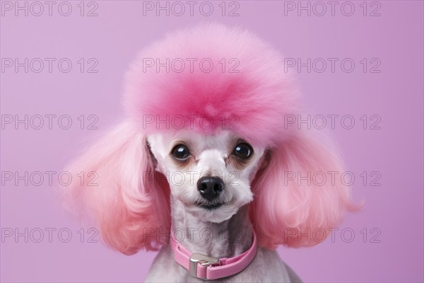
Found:
[[[172,232],[170,243],[174,251],[175,261],[189,270],[190,275],[200,279],[220,279],[235,275],[244,270],[257,253],[257,236],[254,232],[253,243],[249,250],[234,258],[213,258],[200,253],[190,253],[189,250],[177,242]]]

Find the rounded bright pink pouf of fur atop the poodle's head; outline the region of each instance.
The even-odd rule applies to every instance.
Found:
[[[184,71],[167,72],[165,67],[143,69],[143,59],[160,59],[160,63],[183,59]],[[192,71],[187,58],[196,58]],[[212,71],[201,71],[202,59],[211,59]],[[223,71],[222,60],[226,62]],[[235,59],[230,63],[231,59]],[[237,67],[235,65],[239,63]],[[235,67],[230,72],[230,67]],[[208,64],[204,63],[208,69]],[[178,69],[178,67],[175,67]],[[171,33],[165,39],[142,50],[126,74],[124,103],[129,115],[140,122],[143,115],[156,120],[166,116],[195,115],[194,128],[213,133],[222,129],[224,117],[249,142],[258,145],[278,144],[290,135],[284,129],[284,115],[298,112],[298,93],[292,78],[284,71],[283,57],[256,35],[223,25],[198,25]],[[201,117],[213,119],[211,129],[203,129]],[[189,127],[187,120],[185,125]],[[165,130],[165,125],[148,125],[145,132]]]

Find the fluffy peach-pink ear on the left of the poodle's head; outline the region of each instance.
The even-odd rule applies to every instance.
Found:
[[[67,168],[66,204],[93,216],[107,246],[124,254],[156,250],[166,241],[159,235],[169,231],[170,205],[166,180],[153,167],[146,137],[123,122]]]

